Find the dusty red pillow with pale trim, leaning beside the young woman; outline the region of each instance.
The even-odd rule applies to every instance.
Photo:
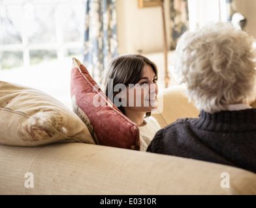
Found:
[[[71,98],[74,112],[93,128],[96,144],[125,149],[140,149],[136,123],[106,97],[79,60],[72,59]],[[86,117],[86,119],[84,119]]]

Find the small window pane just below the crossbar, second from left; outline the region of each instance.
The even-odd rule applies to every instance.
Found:
[[[31,50],[29,55],[31,64],[39,64],[45,60],[57,59],[57,52],[55,50]]]

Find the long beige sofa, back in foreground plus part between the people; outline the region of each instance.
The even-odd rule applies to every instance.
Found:
[[[163,91],[162,127],[197,117],[181,86]],[[161,96],[161,94],[160,94]],[[160,98],[161,99],[161,98]],[[1,135],[0,135],[1,138]],[[0,194],[256,194],[256,174],[211,162],[80,142],[0,145]]]

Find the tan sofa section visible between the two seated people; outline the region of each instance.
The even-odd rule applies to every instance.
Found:
[[[199,109],[189,102],[183,85],[165,88],[159,96],[163,96],[163,98],[159,98],[163,99],[163,102],[159,102],[159,107],[152,116],[159,122],[162,128],[176,122],[178,118],[199,117]]]

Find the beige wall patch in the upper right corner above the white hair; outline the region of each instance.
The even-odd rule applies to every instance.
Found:
[[[236,0],[236,10],[242,13],[247,19],[245,30],[256,37],[256,1]]]

